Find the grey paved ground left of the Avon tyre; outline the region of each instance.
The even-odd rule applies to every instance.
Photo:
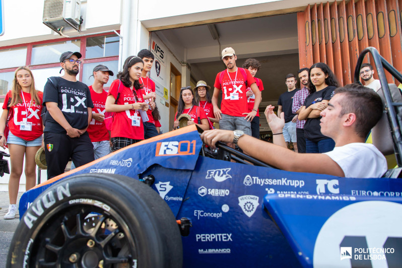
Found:
[[[18,193],[17,206],[23,192]],[[20,215],[17,212],[16,219],[5,220],[3,216],[9,210],[9,193],[0,191],[0,268],[6,267],[7,254],[14,231],[20,222]]]

